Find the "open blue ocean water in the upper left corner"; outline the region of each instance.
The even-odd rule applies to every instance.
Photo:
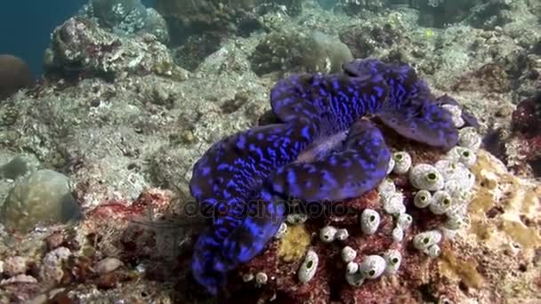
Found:
[[[52,30],[74,15],[88,0],[4,1],[0,10],[0,28],[4,36],[0,53],[9,53],[28,62],[34,75],[42,74],[45,48]],[[156,0],[142,1],[154,6]]]

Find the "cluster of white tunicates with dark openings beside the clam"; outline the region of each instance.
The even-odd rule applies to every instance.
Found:
[[[453,105],[447,105],[445,108],[453,115],[457,127],[464,125],[460,108]],[[441,254],[442,234],[446,237],[451,236],[457,229],[468,224],[467,204],[472,198],[472,189],[475,185],[475,176],[469,168],[477,161],[476,153],[480,148],[481,139],[475,128],[464,127],[459,131],[458,141],[458,146],[451,148],[436,164],[412,165],[412,157],[405,151],[393,153],[390,163],[390,172],[408,173],[408,180],[416,188],[413,203],[417,208],[428,208],[434,214],[445,214],[447,217],[440,228],[424,231],[413,237],[414,247],[432,258]],[[392,241],[401,243],[405,231],[413,220],[411,215],[406,213],[404,195],[389,178],[384,179],[377,190],[384,212],[392,214],[396,220],[396,226],[392,229]],[[376,228],[368,225],[372,222],[370,219],[376,220],[373,214],[377,212],[370,209],[361,214],[361,225],[365,234],[375,233]],[[380,220],[377,216],[378,225]],[[385,252],[383,257],[367,256],[357,265],[353,262],[357,252],[353,256],[351,251],[351,247],[344,247],[343,260],[349,263],[346,280],[353,286],[359,286],[365,279],[376,278],[384,273],[396,273],[402,261],[400,251],[393,249]]]

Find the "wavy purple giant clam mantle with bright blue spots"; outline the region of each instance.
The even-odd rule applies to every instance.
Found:
[[[354,60],[343,74],[295,75],[271,90],[280,124],[214,143],[193,168],[190,191],[212,222],[198,237],[192,272],[212,294],[228,272],[262,252],[285,216],[287,198],[332,202],[360,196],[384,179],[391,152],[366,119],[434,147],[456,145],[451,115],[408,65]],[[336,134],[345,140],[310,162],[297,160]],[[302,159],[302,158],[300,158]]]

